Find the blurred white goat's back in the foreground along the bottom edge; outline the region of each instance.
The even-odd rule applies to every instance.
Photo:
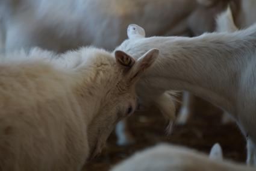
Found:
[[[219,157],[212,158],[211,154],[216,152]],[[157,145],[153,148],[137,152],[132,157],[117,164],[111,171],[186,171],[186,170],[208,170],[208,171],[255,171],[253,167],[222,161],[222,151],[219,145],[214,145],[210,157],[201,152],[175,145]]]

